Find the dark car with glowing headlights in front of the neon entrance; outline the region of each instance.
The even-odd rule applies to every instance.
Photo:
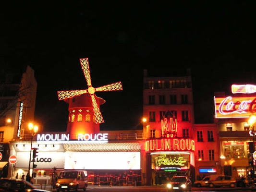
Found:
[[[175,176],[167,184],[167,191],[191,191],[192,182],[185,176]]]

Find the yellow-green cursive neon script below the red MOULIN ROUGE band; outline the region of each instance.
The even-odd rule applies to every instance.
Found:
[[[172,159],[171,156],[170,158],[166,157],[166,154],[161,155],[161,156],[157,156],[155,157],[155,163],[156,166],[161,166],[163,165],[179,165],[179,166],[184,166],[186,161],[183,161],[184,157],[183,156],[179,156],[178,158],[176,156],[174,156],[174,158]]]

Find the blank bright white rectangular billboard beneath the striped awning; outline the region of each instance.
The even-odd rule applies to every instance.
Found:
[[[65,169],[140,170],[140,152],[66,152]]]

